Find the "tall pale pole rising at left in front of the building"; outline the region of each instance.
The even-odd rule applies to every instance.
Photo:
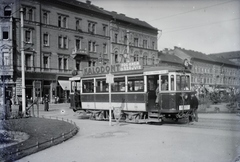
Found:
[[[22,64],[22,113],[26,114],[26,92],[25,92],[25,54],[24,54],[24,30],[23,30],[23,8],[20,9],[21,16],[21,64]]]

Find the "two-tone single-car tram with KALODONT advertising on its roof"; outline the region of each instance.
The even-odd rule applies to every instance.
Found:
[[[143,67],[139,62],[87,67],[70,81],[71,108],[91,118],[108,119],[109,104],[121,108],[123,120],[137,122],[178,120],[191,113],[191,73],[184,67]]]

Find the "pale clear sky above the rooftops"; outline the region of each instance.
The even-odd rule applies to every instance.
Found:
[[[84,0],[81,0],[84,2]],[[158,28],[158,50],[240,51],[240,0],[91,0]]]

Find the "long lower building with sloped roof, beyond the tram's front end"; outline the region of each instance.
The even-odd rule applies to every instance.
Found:
[[[215,55],[206,55],[201,52],[174,47],[173,50],[164,50],[163,53],[175,55],[182,61],[187,59],[192,64],[192,88],[206,87],[210,91],[215,88],[239,88],[239,65],[228,59]]]

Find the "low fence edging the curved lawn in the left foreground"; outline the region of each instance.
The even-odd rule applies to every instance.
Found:
[[[42,116],[42,118],[46,118],[44,116]],[[54,117],[48,117],[50,119],[54,119]],[[24,149],[20,149],[19,147],[17,147],[14,151],[6,151],[4,153],[4,156],[2,157],[4,159],[4,161],[15,161],[18,159],[21,159],[25,156],[31,155],[33,153],[36,153],[38,151],[44,150],[46,148],[49,148],[51,146],[57,145],[59,143],[62,143],[66,140],[68,140],[69,138],[73,137],[74,135],[77,134],[79,128],[76,126],[76,123],[73,122],[72,120],[68,120],[68,119],[64,119],[64,118],[58,118],[55,117],[56,120],[62,120],[68,123],[71,123],[74,125],[73,129],[70,129],[67,132],[62,133],[61,135],[57,136],[57,137],[51,137],[50,139],[44,141],[44,142],[39,142],[36,141],[36,144],[32,145],[32,146],[28,146]],[[18,145],[16,145],[18,146]],[[2,160],[2,159],[0,159]]]

